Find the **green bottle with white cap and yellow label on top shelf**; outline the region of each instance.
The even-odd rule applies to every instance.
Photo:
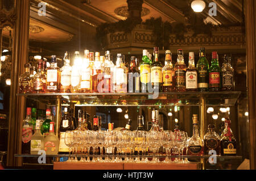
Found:
[[[147,92],[147,84],[150,83],[150,60],[147,57],[147,50],[143,49],[142,62],[140,66],[141,72],[141,92]]]

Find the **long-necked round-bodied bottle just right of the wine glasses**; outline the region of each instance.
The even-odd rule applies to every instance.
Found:
[[[193,115],[193,136],[188,140],[188,155],[204,154],[204,140],[199,136],[198,124],[198,116]]]

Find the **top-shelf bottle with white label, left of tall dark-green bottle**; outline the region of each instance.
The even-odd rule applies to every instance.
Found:
[[[186,90],[197,91],[197,70],[195,67],[194,52],[189,52],[188,68],[186,72]]]

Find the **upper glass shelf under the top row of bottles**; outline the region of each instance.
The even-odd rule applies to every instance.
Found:
[[[76,106],[199,106],[205,98],[207,106],[233,106],[241,91],[159,92],[154,93],[44,93],[18,94],[48,105],[75,103]]]

